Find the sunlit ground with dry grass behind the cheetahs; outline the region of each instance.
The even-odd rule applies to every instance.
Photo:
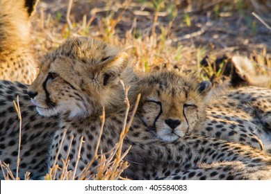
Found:
[[[33,40],[40,57],[67,37],[99,37],[129,52],[136,71],[174,69],[220,83],[233,55],[270,71],[270,10],[270,0],[44,0]]]

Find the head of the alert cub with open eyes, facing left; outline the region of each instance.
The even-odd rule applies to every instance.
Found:
[[[28,95],[42,116],[88,116],[120,96],[128,55],[89,37],[67,39],[40,62]]]

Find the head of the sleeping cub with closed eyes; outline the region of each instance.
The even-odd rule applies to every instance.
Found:
[[[163,72],[142,79],[142,85],[142,121],[159,139],[175,141],[204,120],[211,82],[197,83],[176,73]]]

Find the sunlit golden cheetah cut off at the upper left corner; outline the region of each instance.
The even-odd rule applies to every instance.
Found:
[[[38,1],[0,1],[0,80],[30,84],[37,73],[30,16]]]

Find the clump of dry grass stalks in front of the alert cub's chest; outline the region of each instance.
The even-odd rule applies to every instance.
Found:
[[[124,83],[122,82],[122,85],[124,87]],[[129,128],[131,127],[131,123],[133,121],[133,118],[136,114],[136,109],[138,107],[139,101],[140,101],[140,95],[138,96],[138,100],[136,102],[136,105],[133,109],[133,112],[131,113],[131,120],[129,121],[129,123],[127,123],[127,119],[129,116],[129,109],[130,109],[130,104],[129,104],[129,99],[128,99],[128,91],[129,91],[129,87],[126,88],[124,87],[125,90],[125,103],[126,103],[126,114],[124,116],[124,125],[122,128],[122,133],[120,134],[120,139],[119,141],[116,143],[116,145],[109,151],[106,153],[98,153],[99,150],[99,144],[101,142],[101,135],[103,134],[104,131],[104,123],[106,121],[106,117],[105,117],[105,110],[103,109],[103,114],[100,116],[101,119],[101,131],[99,134],[99,139],[96,145],[96,149],[95,149],[95,153],[94,153],[94,157],[93,159],[85,166],[85,168],[80,172],[76,174],[76,170],[69,171],[68,166],[69,166],[69,158],[67,157],[65,160],[63,159],[63,168],[60,168],[56,163],[54,163],[54,166],[52,168],[50,168],[49,173],[45,176],[44,179],[47,180],[52,180],[52,179],[56,179],[56,173],[58,171],[60,171],[61,176],[60,179],[96,179],[96,180],[115,180],[115,179],[124,179],[121,177],[122,172],[129,167],[129,164],[127,161],[124,161],[124,157],[128,154],[130,148],[128,148],[125,152],[123,152],[122,150],[122,145],[123,145],[123,141],[124,138],[127,134],[127,132],[129,132]],[[66,130],[63,134],[63,139],[65,138],[65,133]],[[71,148],[72,145],[72,140],[70,141],[69,144],[69,150]],[[80,154],[81,154],[81,145],[83,142],[83,136],[81,137],[81,142],[80,142],[80,146],[79,146],[79,154],[77,156],[77,160],[76,160],[76,165],[75,165],[75,169],[76,166],[79,162],[80,159]],[[60,143],[60,148],[63,145],[63,141],[61,141]],[[59,150],[60,150],[59,148]],[[69,150],[68,150],[68,154],[69,155]],[[56,160],[58,158],[58,155],[56,156]],[[95,163],[95,161],[97,161],[97,166],[93,167],[93,164]]]

